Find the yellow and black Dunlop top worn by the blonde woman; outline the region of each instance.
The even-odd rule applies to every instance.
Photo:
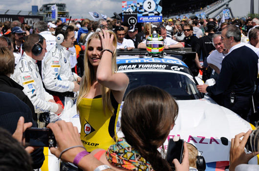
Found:
[[[118,104],[111,92],[110,100],[114,111],[112,113],[106,107],[106,114],[104,114],[101,95],[93,99],[83,98],[78,104],[81,121],[80,137],[88,152],[95,149],[107,150],[110,145],[115,144],[116,124],[121,104]]]

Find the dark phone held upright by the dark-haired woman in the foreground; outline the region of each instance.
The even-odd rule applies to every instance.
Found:
[[[166,153],[166,160],[169,162],[171,167],[174,168],[173,159],[177,159],[179,163],[182,163],[183,157],[183,143],[184,140],[180,139],[180,137],[175,136],[173,139],[169,139],[168,141],[168,148]]]

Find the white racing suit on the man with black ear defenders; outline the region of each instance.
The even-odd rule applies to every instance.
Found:
[[[36,60],[25,52],[16,65],[12,79],[23,86],[23,92],[28,96],[34,106],[35,113],[56,112],[58,105],[48,102],[53,96],[45,91]]]

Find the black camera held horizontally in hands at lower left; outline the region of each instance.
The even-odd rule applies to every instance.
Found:
[[[27,128],[25,142],[33,147],[57,147],[55,136],[49,128]]]

